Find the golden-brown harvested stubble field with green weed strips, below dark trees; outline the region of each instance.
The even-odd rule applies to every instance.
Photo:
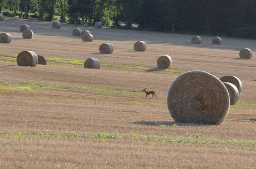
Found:
[[[240,59],[256,40],[119,29],[4,18],[0,30],[12,43],[0,49],[1,169],[254,169],[256,156],[256,57]],[[22,38],[19,25],[36,36]],[[93,32],[82,42],[74,28]],[[135,52],[143,40],[145,52]],[[112,54],[100,54],[109,42]],[[47,65],[19,67],[17,54],[31,50]],[[162,54],[172,58],[159,69]],[[101,69],[84,69],[87,58]],[[240,78],[243,91],[221,125],[175,123],[167,107],[168,87],[189,70]],[[144,88],[158,99],[144,98]]]

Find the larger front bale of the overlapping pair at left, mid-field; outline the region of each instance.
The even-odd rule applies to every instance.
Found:
[[[32,51],[23,51],[17,56],[17,63],[19,66],[36,66],[38,62],[37,55]]]

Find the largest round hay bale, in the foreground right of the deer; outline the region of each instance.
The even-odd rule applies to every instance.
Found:
[[[230,100],[217,77],[204,71],[189,71],[171,84],[167,104],[178,123],[220,124],[228,114]]]

